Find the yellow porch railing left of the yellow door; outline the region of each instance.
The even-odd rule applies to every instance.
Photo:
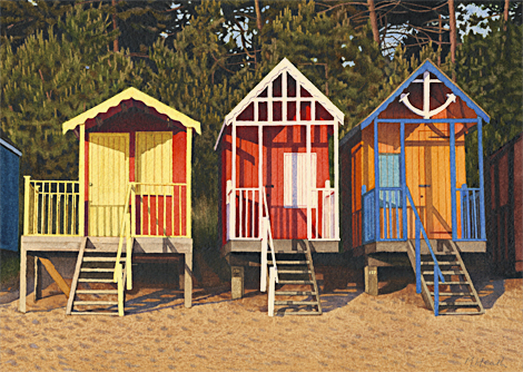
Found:
[[[23,235],[78,236],[80,183],[23,178]]]

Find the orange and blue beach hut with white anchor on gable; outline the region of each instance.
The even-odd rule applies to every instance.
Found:
[[[377,267],[408,256],[436,315],[483,312],[461,253],[486,249],[481,154],[489,120],[426,60],[342,139],[344,251],[365,266],[366,292],[378,292]],[[466,148],[472,136],[475,154]],[[467,175],[472,156],[478,168]],[[446,293],[443,282],[452,283]]]

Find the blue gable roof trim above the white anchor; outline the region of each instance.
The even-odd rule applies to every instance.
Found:
[[[371,112],[369,116],[367,116],[358,126],[361,126],[361,129],[364,129],[367,127],[371,123],[374,121],[374,119],[383,111],[385,110],[391,102],[393,102],[397,96],[402,94],[402,91],[411,85],[411,82],[417,78],[421,74],[428,71],[434,74],[440,81],[442,81],[448,89],[452,90],[454,95],[460,97],[465,104],[473,109],[478,117],[481,117],[485,123],[491,121],[491,118],[486,112],[471,98],[468,97],[460,87],[455,85],[454,81],[452,81],[440,68],[437,68],[430,59],[426,59],[414,72],[411,74],[411,76],[399,86],[394,90],[387,99],[383,101],[382,105],[379,105],[374,111]]]

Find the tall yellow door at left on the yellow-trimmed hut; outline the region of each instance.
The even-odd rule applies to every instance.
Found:
[[[119,236],[129,183],[129,135],[89,135],[89,235]]]

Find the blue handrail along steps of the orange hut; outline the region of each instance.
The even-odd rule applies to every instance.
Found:
[[[414,212],[414,216],[416,218],[416,293],[422,293],[421,235],[423,234],[425,244],[427,245],[428,252],[431,252],[432,260],[434,261],[434,315],[437,316],[440,314],[440,278],[442,283],[445,283],[445,278],[443,277],[440,265],[437,264],[436,256],[434,255],[431,242],[428,241],[425,227],[423,227],[422,219],[420,218],[420,214],[417,213],[416,206],[414,205],[414,200],[412,199],[411,190],[408,189],[408,187],[406,187],[406,194],[408,197],[408,203],[411,203],[412,211]]]

